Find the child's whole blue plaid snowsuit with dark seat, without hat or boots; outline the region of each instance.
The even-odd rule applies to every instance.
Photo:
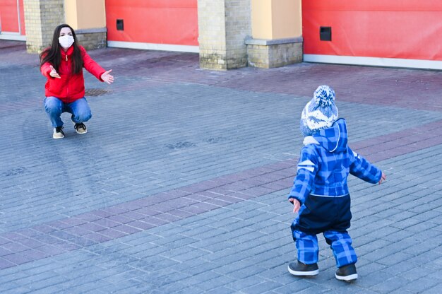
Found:
[[[304,145],[289,194],[301,203],[291,226],[298,261],[318,262],[316,234],[323,233],[333,249],[336,265],[354,264],[357,257],[347,233],[352,218],[347,177],[350,173],[375,184],[382,172],[347,146],[345,119],[338,119],[313,137],[307,136]]]

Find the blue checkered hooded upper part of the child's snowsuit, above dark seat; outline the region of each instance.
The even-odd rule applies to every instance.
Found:
[[[307,136],[301,149],[297,176],[289,198],[304,204],[306,196],[345,196],[349,194],[347,177],[350,174],[376,184],[381,170],[347,145],[345,119],[338,119],[332,127]]]

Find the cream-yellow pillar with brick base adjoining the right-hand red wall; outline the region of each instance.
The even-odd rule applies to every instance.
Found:
[[[272,68],[302,61],[301,0],[251,0],[249,66]]]

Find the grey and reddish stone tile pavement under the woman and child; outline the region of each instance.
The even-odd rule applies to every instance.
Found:
[[[36,54],[0,40],[1,293],[442,293],[442,72],[296,64],[225,72],[198,55],[99,49],[88,134],[52,139]],[[330,84],[350,145],[359,279],[295,278],[286,195],[299,115]]]

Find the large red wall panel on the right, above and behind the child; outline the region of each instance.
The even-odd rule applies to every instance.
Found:
[[[302,25],[304,54],[442,60],[441,0],[304,0]]]

